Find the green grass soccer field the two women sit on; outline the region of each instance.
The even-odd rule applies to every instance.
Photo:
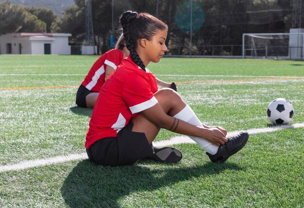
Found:
[[[223,164],[197,144],[174,144],[176,164],[150,160],[102,167],[85,159],[24,164],[85,153],[91,109],[75,105],[97,56],[0,55],[0,207],[303,208],[304,128],[253,133]],[[304,62],[164,58],[148,68],[206,125],[229,132],[271,128],[270,101],[290,100],[304,123]],[[178,134],[161,130],[155,142]],[[20,164],[18,164],[20,163]],[[15,167],[15,166],[14,166]]]

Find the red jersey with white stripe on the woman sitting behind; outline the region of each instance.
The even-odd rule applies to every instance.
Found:
[[[89,73],[81,83],[86,89],[92,92],[99,92],[101,86],[104,84],[105,68],[107,65],[116,69],[123,59],[123,53],[118,49],[112,49],[99,57],[93,64]]]

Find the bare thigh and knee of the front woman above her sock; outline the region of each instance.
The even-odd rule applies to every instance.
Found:
[[[154,96],[164,112],[170,116],[177,114],[186,107],[186,103],[181,96],[171,89],[161,89],[156,92]],[[138,115],[132,119],[132,122],[134,124],[132,131],[145,133],[149,144],[152,144],[160,128],[150,122],[142,113],[138,113]]]

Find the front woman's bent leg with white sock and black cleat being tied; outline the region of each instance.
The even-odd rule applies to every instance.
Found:
[[[162,89],[155,93],[154,96],[162,106],[164,112],[168,115],[189,124],[203,127],[192,109],[186,105],[185,101],[173,90]],[[155,139],[160,129],[145,118],[142,113],[135,116],[132,121],[134,123],[132,131],[145,133],[148,142],[152,144],[152,141]],[[229,138],[227,143],[220,146],[212,144],[204,138],[189,137],[206,150],[211,161],[224,162],[243,148],[247,143],[249,134],[247,132],[240,132],[236,136]]]

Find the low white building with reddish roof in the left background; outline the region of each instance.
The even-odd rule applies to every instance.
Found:
[[[70,33],[14,33],[0,36],[0,54],[70,55]]]

